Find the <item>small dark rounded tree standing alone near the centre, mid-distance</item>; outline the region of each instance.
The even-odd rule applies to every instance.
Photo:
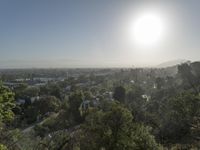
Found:
[[[113,98],[121,103],[125,102],[126,90],[123,86],[118,86],[114,90]]]

